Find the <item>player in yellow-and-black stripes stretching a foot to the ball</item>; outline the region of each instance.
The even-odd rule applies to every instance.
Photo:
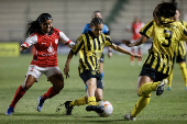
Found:
[[[88,103],[87,111],[96,111],[101,113],[102,110],[97,105],[97,101],[102,100],[102,83],[99,76],[100,57],[105,46],[110,46],[114,50],[123,54],[131,55],[133,57],[141,58],[141,55],[132,54],[120,46],[113,44],[109,36],[102,33],[103,22],[100,18],[94,18],[91,20],[91,31],[80,35],[76,42],[76,45],[72,48],[64,68],[66,78],[69,77],[69,63],[74,54],[79,53],[79,76],[87,84],[87,95],[75,101],[66,101],[66,114],[72,114],[72,109],[75,105],[84,105]],[[63,105],[63,104],[61,104]],[[59,105],[59,106],[61,106]]]

